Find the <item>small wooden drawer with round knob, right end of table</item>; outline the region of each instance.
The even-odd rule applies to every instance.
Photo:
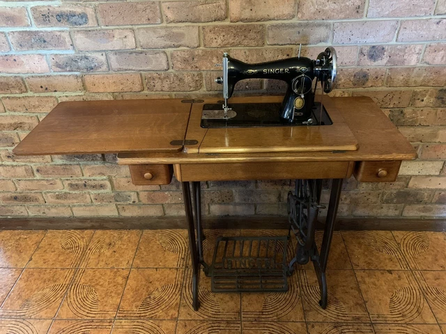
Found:
[[[399,166],[401,161],[361,161],[356,164],[354,175],[360,182],[394,182]]]

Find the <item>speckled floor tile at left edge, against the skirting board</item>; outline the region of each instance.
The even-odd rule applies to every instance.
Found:
[[[44,235],[44,231],[1,231],[0,268],[24,268]]]

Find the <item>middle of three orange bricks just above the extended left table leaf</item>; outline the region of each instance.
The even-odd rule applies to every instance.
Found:
[[[86,90],[101,92],[140,92],[141,75],[132,74],[89,74],[84,77]]]

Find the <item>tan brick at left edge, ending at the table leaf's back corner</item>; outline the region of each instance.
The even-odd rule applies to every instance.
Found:
[[[2,97],[7,111],[19,113],[49,113],[57,104],[53,96]]]

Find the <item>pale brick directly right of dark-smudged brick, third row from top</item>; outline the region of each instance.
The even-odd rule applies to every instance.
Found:
[[[130,29],[79,30],[72,33],[79,51],[134,49],[134,33]]]

